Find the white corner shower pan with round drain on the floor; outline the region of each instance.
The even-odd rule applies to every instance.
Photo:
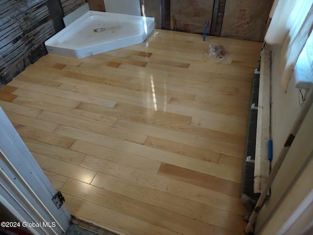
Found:
[[[88,11],[45,41],[48,53],[74,58],[145,41],[155,28],[152,17]]]

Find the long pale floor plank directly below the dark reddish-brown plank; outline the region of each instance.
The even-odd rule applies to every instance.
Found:
[[[217,207],[225,211],[236,213],[243,208],[243,204],[239,198],[135,169],[130,166],[113,163],[105,159],[88,155],[81,166],[204,203],[212,207]]]

